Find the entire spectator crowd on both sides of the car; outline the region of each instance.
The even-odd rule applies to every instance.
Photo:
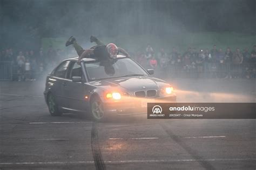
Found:
[[[55,67],[66,53],[49,46],[46,52],[41,47],[38,51],[5,49],[0,51],[0,67],[11,67],[12,80],[36,80],[44,71]],[[155,51],[148,44],[145,51],[132,53],[133,59],[145,69],[154,69],[161,78],[255,78],[256,45],[248,48],[226,50],[213,46],[211,50],[188,47],[180,52],[176,47],[167,52]],[[68,57],[66,57],[68,58]],[[166,77],[164,77],[166,76]]]

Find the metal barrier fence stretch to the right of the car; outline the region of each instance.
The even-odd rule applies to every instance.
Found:
[[[217,64],[203,63],[201,65],[168,65],[157,68],[159,77],[169,78],[256,78],[256,63]]]

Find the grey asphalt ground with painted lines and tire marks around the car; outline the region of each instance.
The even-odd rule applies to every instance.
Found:
[[[255,119],[52,117],[44,80],[0,81],[0,169],[255,169]],[[254,102],[255,80],[174,79],[178,102]]]

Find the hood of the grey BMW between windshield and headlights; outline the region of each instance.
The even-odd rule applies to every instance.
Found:
[[[159,86],[168,85],[164,80],[148,76],[111,78],[91,81],[91,85],[105,90],[120,89],[125,91],[158,90]]]

